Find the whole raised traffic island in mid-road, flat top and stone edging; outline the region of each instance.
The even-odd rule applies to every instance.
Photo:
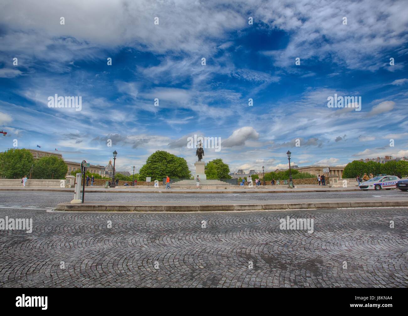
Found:
[[[407,206],[407,199],[367,198],[330,200],[242,201],[242,202],[85,202],[60,203],[58,211],[114,211],[114,212],[199,212],[199,211],[256,211],[302,208]],[[407,206],[408,207],[408,206]]]

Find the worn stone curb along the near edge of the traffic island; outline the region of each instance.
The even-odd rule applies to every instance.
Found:
[[[227,205],[101,205],[60,203],[58,211],[113,211],[113,212],[214,212],[214,211],[253,211],[294,208],[337,208],[370,206],[407,206],[406,201],[382,202],[316,202],[316,203],[277,203],[277,204],[227,204]]]

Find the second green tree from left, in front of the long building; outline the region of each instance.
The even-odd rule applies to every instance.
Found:
[[[44,156],[35,160],[33,179],[65,179],[68,166],[61,158]]]

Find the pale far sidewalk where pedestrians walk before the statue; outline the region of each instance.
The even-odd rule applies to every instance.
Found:
[[[44,187],[0,187],[0,191],[43,191],[43,192],[74,192],[74,188],[44,188]],[[262,188],[249,188],[231,186],[222,188],[206,188],[197,189],[196,187],[191,188],[177,188],[166,190],[165,187],[115,187],[108,188],[105,187],[85,187],[86,193],[293,193],[293,192],[346,192],[346,191],[360,191],[357,187],[350,188],[331,188],[322,186],[310,186],[310,187],[295,187],[289,189],[288,187],[278,187],[278,186],[264,186]],[[82,192],[82,187],[81,187]]]

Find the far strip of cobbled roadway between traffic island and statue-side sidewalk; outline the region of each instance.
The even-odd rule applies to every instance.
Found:
[[[364,199],[375,196],[406,198],[408,193],[399,190],[390,191],[357,191],[357,192],[310,192],[310,193],[86,193],[85,201],[112,202],[227,202],[227,201],[290,201],[309,199]],[[33,192],[33,191],[0,191],[0,205],[55,207],[58,203],[69,202],[73,193],[67,192]]]

